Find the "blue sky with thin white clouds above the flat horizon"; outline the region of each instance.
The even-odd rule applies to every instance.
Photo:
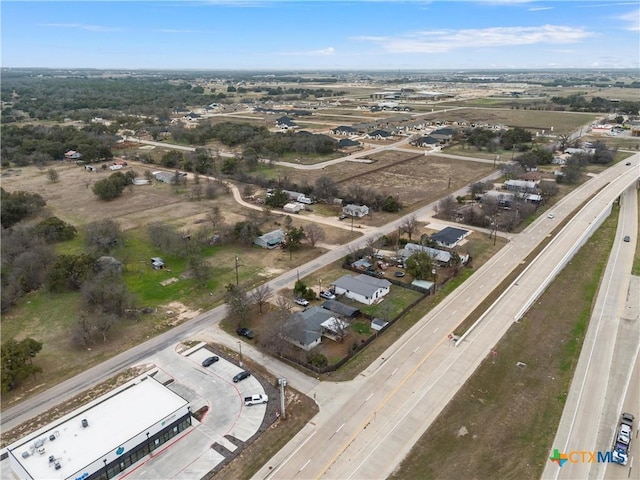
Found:
[[[2,67],[640,67],[640,0],[2,0]]]

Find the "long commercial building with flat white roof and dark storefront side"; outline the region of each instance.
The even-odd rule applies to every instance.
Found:
[[[144,375],[7,447],[20,479],[108,480],[191,426],[189,402]]]

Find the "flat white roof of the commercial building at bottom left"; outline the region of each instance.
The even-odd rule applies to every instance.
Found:
[[[65,479],[188,402],[151,377],[111,392],[8,447],[32,478]],[[149,399],[153,399],[150,401]],[[82,426],[86,419],[88,426]],[[55,440],[50,440],[54,435]],[[44,453],[32,450],[43,440]],[[29,456],[23,458],[23,452]],[[61,468],[49,463],[54,456]]]

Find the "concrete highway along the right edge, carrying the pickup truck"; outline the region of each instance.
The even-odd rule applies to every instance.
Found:
[[[620,203],[616,238],[553,443],[553,448],[561,453],[610,450],[622,400],[631,381],[630,394],[637,402],[637,378],[630,377],[640,348],[637,281],[634,281],[636,288],[630,288],[638,231],[635,186],[624,192]],[[631,242],[623,241],[626,235],[632,238]],[[626,308],[630,305],[636,307]],[[628,402],[627,408],[638,416],[639,405],[632,403]],[[634,448],[637,452],[638,445]],[[548,462],[542,478],[603,478],[605,468],[609,468],[606,463],[567,462],[559,468]],[[610,478],[627,478],[627,468],[617,465],[610,468]],[[616,473],[624,477],[615,476]]]

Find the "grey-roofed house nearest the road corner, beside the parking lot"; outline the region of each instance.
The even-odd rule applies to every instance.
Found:
[[[283,337],[296,347],[309,351],[320,345],[322,335],[335,332],[342,326],[335,314],[320,307],[307,308],[302,312],[296,312],[287,321],[283,328]]]

